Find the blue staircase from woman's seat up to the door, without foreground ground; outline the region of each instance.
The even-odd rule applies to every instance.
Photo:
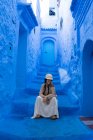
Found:
[[[58,95],[58,106],[60,115],[77,114],[79,104],[73,104],[67,94],[64,94],[60,85],[58,68],[56,66],[40,66],[37,76],[32,80],[31,85],[26,89],[16,90],[12,100],[12,115],[21,117],[30,117],[34,112],[34,104],[39,90],[44,82],[45,75],[53,75],[53,83]]]

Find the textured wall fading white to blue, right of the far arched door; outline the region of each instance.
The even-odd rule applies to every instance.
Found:
[[[66,86],[66,93],[73,103],[78,103],[79,59],[77,56],[77,31],[75,22],[70,11],[71,0],[63,0],[59,6],[58,21],[58,60],[59,67],[67,70],[70,82]]]

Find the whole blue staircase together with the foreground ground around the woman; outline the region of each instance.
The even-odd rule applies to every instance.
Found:
[[[59,119],[31,119],[34,104],[46,73],[52,73],[58,94]],[[57,67],[41,66],[31,85],[16,89],[10,113],[0,119],[0,140],[92,140],[91,132],[79,120],[78,104],[62,93]]]

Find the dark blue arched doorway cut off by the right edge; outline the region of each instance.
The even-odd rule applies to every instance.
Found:
[[[93,41],[87,40],[83,50],[82,114],[93,116]]]

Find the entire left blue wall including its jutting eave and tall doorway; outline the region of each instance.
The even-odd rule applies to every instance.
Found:
[[[11,104],[16,89],[26,87],[28,34],[37,25],[31,5],[19,4],[16,0],[0,1],[0,110],[4,109],[2,113],[9,111],[6,106]]]

